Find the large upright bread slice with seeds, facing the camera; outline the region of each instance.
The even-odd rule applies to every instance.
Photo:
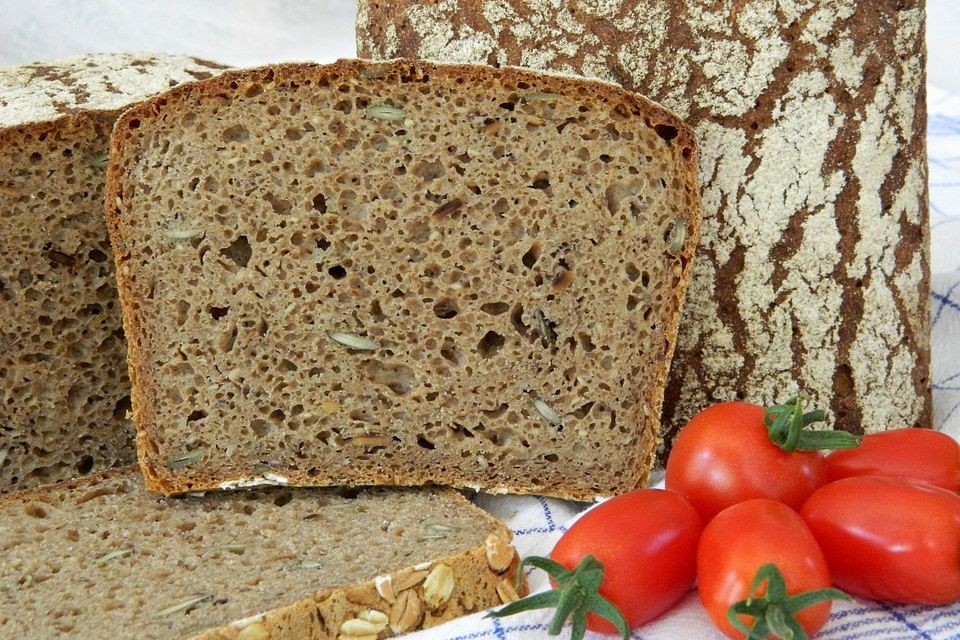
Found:
[[[636,487],[694,142],[612,85],[281,65],[126,112],[107,218],[151,489]]]

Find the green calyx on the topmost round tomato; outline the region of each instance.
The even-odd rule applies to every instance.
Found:
[[[804,411],[810,398],[799,394],[783,404],[768,407],[763,423],[770,440],[786,452],[851,449],[859,446],[860,438],[846,431],[813,430],[811,425],[827,419],[822,409]]]

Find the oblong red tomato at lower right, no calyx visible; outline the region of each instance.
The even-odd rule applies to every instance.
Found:
[[[801,513],[841,589],[885,602],[960,600],[957,494],[894,478],[847,478],[819,489]]]

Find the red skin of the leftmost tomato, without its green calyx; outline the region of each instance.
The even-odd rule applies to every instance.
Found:
[[[631,491],[584,514],[550,558],[572,569],[593,555],[604,567],[600,594],[634,628],[670,609],[693,588],[702,530],[700,516],[679,494]],[[612,624],[593,614],[587,628],[615,633]]]

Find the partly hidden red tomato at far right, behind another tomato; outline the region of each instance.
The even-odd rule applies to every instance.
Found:
[[[830,482],[885,476],[960,491],[960,444],[930,429],[895,429],[865,436],[856,449],[834,451],[825,463]]]

